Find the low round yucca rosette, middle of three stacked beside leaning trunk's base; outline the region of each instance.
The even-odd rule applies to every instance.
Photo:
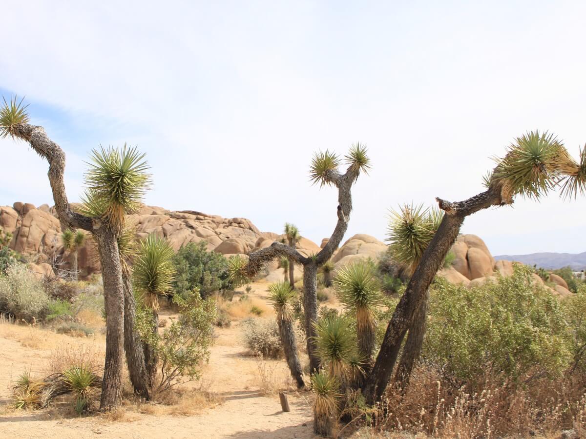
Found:
[[[340,383],[345,383],[348,360],[355,351],[355,338],[349,321],[338,316],[328,316],[314,324],[316,351],[327,368]]]

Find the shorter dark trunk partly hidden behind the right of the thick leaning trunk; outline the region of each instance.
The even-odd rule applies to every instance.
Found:
[[[397,366],[395,373],[395,381],[401,382],[403,387],[408,384],[409,376],[413,371],[413,366],[421,355],[421,348],[423,348],[423,339],[425,331],[427,330],[427,308],[430,301],[430,290],[425,291],[423,301],[413,314],[413,322],[409,327],[407,333],[407,341],[403,347],[403,354],[401,354],[401,361]]]

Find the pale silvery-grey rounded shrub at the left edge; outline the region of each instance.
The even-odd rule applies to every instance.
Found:
[[[18,320],[44,318],[49,297],[42,283],[23,264],[12,264],[5,276],[0,276],[0,311]]]

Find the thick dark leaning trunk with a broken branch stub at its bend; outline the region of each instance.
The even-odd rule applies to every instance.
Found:
[[[459,203],[449,203],[437,198],[440,208],[445,212],[444,218],[435,232],[434,238],[425,249],[421,262],[415,269],[403,297],[397,304],[384,334],[374,367],[364,382],[363,395],[368,404],[374,404],[383,397],[397,361],[401,342],[413,320],[413,314],[424,301],[425,293],[429,289],[435,273],[440,269],[445,255],[458,237],[464,219],[474,212],[493,205],[513,203],[510,196],[502,196],[500,184],[495,183],[494,186]]]

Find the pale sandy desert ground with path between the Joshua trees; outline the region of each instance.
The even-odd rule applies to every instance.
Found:
[[[265,282],[252,284],[250,295],[264,300],[267,286]],[[270,313],[268,306],[266,313]],[[165,311],[161,316],[173,317]],[[12,383],[29,368],[33,375],[43,376],[52,362],[70,351],[100,355],[104,335],[77,338],[40,327],[0,324],[1,435],[29,438],[49,434],[62,439],[314,437],[309,392],[294,391],[284,360],[264,361],[248,355],[240,334],[239,320],[229,328],[216,328],[202,379],[180,385],[180,398],[168,404],[127,402],[113,414],[79,417],[66,403],[39,411],[13,410]],[[290,412],[281,411],[277,390],[287,390]]]

